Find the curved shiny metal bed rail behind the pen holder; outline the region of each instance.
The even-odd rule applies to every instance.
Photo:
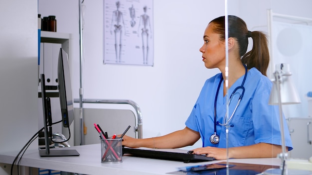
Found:
[[[74,99],[74,102],[79,103],[79,99]],[[129,104],[134,107],[137,112],[137,121],[135,126],[135,131],[137,132],[138,138],[143,138],[143,123],[142,123],[142,113],[139,105],[128,99],[83,99],[83,103],[106,103],[106,104]]]

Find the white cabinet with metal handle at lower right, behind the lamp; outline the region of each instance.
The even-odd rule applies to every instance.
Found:
[[[294,148],[289,157],[309,159],[312,156],[312,118],[288,118],[287,121]]]

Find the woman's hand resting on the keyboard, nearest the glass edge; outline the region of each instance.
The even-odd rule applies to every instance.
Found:
[[[203,148],[196,148],[192,151],[193,151],[193,154],[206,155],[207,157],[213,157],[216,160],[226,159],[226,148],[203,147]]]

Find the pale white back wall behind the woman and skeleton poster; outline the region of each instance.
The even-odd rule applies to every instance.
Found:
[[[228,14],[242,17],[250,30],[267,30],[268,8],[311,16],[311,4],[310,0],[231,0]],[[154,0],[154,66],[103,65],[103,0],[84,0],[84,98],[137,102],[144,137],[184,128],[204,81],[219,72],[204,67],[199,48],[206,25],[224,15],[224,9],[222,0]],[[78,1],[40,0],[39,12],[56,15],[59,32],[73,33],[72,85],[74,97],[79,98]]]

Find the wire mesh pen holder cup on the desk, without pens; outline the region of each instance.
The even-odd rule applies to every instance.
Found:
[[[101,140],[101,162],[122,163],[123,148],[121,139],[100,139]]]

